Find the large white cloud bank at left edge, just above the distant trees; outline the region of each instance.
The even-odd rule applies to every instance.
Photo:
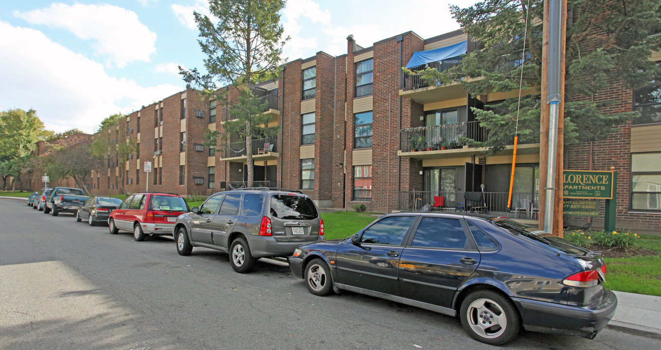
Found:
[[[0,21],[0,105],[34,108],[48,129],[93,132],[107,116],[182,90],[169,84],[141,87],[110,77],[104,67],[52,42],[42,32]],[[29,45],[26,45],[29,43]]]

